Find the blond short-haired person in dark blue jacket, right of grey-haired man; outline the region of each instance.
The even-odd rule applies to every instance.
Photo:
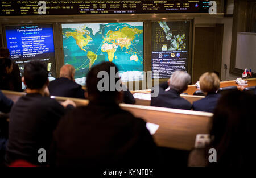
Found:
[[[220,88],[220,79],[215,73],[205,72],[200,78],[200,89],[205,94],[205,98],[193,102],[192,108],[195,111],[213,113],[214,108],[220,98],[216,91]]]

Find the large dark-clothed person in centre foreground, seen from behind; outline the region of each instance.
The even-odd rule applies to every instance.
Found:
[[[119,78],[98,78],[114,63],[104,62],[92,67],[86,78],[88,106],[77,107],[61,119],[53,134],[52,157],[57,166],[111,167],[154,164],[156,145],[146,128],[146,122],[122,110],[119,103],[123,92],[115,88]],[[102,89],[102,90],[101,90]],[[110,90],[111,89],[111,90]],[[120,90],[119,90],[120,91]]]

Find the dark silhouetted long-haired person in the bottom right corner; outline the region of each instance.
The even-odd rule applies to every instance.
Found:
[[[226,93],[220,98],[210,127],[211,143],[189,156],[190,166],[251,167],[254,165],[256,96],[244,92]],[[210,163],[209,149],[216,150],[217,162]]]

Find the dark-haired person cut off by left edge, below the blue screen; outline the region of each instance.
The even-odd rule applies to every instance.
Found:
[[[11,81],[11,72],[13,63],[8,58],[0,59],[0,90],[12,90],[13,82]]]

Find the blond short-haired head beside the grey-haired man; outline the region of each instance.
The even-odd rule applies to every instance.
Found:
[[[204,93],[215,93],[220,88],[220,79],[213,72],[205,72],[199,78],[199,82]]]

